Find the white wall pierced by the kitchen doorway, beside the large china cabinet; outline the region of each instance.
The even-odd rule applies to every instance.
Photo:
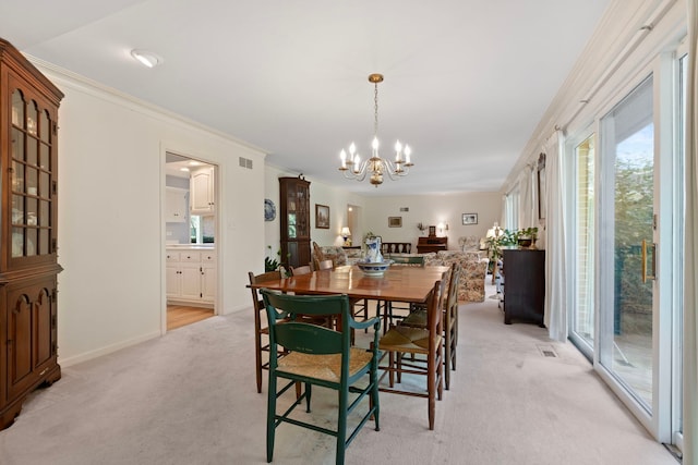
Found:
[[[194,123],[45,68],[59,112],[59,362],[154,338],[165,323],[165,151],[218,173],[217,311],[250,306],[246,271],[264,257],[264,157]],[[252,159],[254,169],[238,166]],[[243,200],[241,200],[243,199]]]

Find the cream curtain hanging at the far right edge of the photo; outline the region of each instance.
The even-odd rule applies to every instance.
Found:
[[[698,462],[698,0],[687,0],[688,79],[686,85],[686,221],[684,262],[684,463]]]

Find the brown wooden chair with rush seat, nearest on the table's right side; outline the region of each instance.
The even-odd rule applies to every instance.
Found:
[[[436,416],[436,399],[442,399],[444,379],[444,343],[442,328],[442,307],[446,280],[436,281],[428,298],[428,326],[414,328],[405,325],[392,327],[378,341],[378,348],[388,356],[387,365],[380,367],[384,372],[381,376],[380,390],[402,395],[411,395],[428,399],[429,429],[434,429]],[[405,355],[414,355],[416,358],[406,360]],[[402,381],[402,375],[417,375],[426,378],[423,391],[398,388]],[[383,380],[388,377],[388,386]]]

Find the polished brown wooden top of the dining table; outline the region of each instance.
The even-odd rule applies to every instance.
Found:
[[[369,277],[348,265],[248,286],[296,294],[347,294],[351,298],[421,303],[446,271],[448,267],[392,266],[382,277]]]

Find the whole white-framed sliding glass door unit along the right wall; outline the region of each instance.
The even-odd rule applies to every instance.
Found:
[[[569,339],[678,449],[686,61],[661,52],[565,143]]]

